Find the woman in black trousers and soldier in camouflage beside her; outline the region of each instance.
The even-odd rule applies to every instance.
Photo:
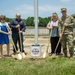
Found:
[[[61,47],[63,49],[64,57],[68,57],[67,54],[67,45],[70,53],[70,58],[74,54],[74,45],[73,45],[73,27],[75,25],[75,19],[72,16],[67,15],[67,9],[61,8],[62,17],[59,19],[57,13],[52,14],[51,21],[47,24],[47,29],[52,31],[50,33],[51,39],[51,53],[56,53],[56,55],[61,55]],[[59,41],[60,40],[60,41]],[[59,45],[56,49],[56,46],[59,42]],[[56,51],[55,51],[56,49]]]

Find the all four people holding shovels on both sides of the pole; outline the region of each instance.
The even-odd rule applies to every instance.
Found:
[[[72,16],[67,15],[67,9],[61,8],[62,17],[59,19],[56,12],[52,14],[51,20],[47,24],[47,29],[50,30],[50,42],[51,42],[51,53],[56,55],[61,54],[61,47],[63,49],[64,56],[67,57],[67,44],[69,47],[70,58],[73,57],[74,53],[74,46],[73,46],[73,26],[75,25],[74,18]],[[4,58],[3,55],[3,48],[4,44],[7,45],[7,55],[10,56],[10,42],[9,42],[9,35],[11,35],[12,31],[12,40],[14,43],[13,46],[13,54],[16,54],[18,51],[17,43],[19,44],[19,49],[21,52],[26,52],[24,50],[23,45],[23,32],[25,32],[26,24],[21,19],[20,14],[16,14],[16,18],[10,22],[10,25],[5,22],[6,17],[1,15],[0,16],[0,53],[1,57]],[[21,42],[20,37],[21,35]],[[59,41],[61,40],[61,42]],[[59,45],[56,49],[57,43],[59,41]],[[56,49],[56,51],[55,51]]]

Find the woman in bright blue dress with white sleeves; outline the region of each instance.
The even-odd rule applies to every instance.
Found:
[[[5,16],[1,15],[0,16],[0,52],[1,52],[1,57],[4,58],[3,55],[3,48],[2,46],[4,44],[7,45],[7,55],[9,55],[9,50],[10,50],[10,45],[9,45],[9,32],[8,30],[10,29],[8,26],[8,23],[5,22]]]

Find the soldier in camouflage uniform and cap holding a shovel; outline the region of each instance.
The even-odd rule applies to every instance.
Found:
[[[74,19],[72,16],[67,15],[66,8],[61,8],[61,13],[62,13],[62,17],[60,19],[59,29],[60,29],[60,32],[62,32],[63,26],[65,27],[63,36],[60,35],[60,38],[62,37],[61,43],[62,43],[62,47],[63,47],[64,56],[67,57],[67,44],[66,43],[68,43],[70,57],[73,57],[73,53],[74,53],[74,47],[73,47],[74,22],[73,22],[73,20]]]

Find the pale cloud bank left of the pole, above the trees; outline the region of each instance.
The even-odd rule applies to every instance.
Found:
[[[2,11],[0,12],[0,14],[5,14],[7,16],[10,15],[10,17],[13,17],[15,16],[16,13],[20,13],[22,16],[22,18],[25,18],[27,17],[28,15],[29,16],[33,16],[34,15],[34,6],[32,5],[22,5],[22,6],[19,6],[19,7],[16,7],[16,8],[12,8],[12,9],[9,9],[9,10],[5,10],[5,11]]]

